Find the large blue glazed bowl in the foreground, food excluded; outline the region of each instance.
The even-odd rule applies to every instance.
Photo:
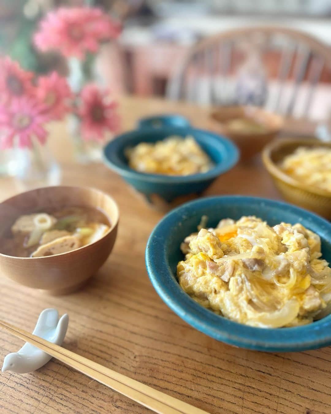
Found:
[[[208,226],[222,218],[239,219],[255,215],[273,226],[285,221],[302,223],[319,234],[323,257],[331,262],[331,223],[299,207],[256,197],[205,197],[188,202],[168,213],[155,227],[146,246],[149,278],[163,301],[180,318],[197,330],[219,341],[259,351],[303,351],[331,345],[331,315],[299,327],[267,329],[250,327],[216,315],[193,299],[179,286],[177,262],[182,260],[180,243],[197,231],[201,216],[209,217]]]

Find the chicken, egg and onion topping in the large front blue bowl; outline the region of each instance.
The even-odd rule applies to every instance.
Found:
[[[223,219],[187,236],[181,250],[182,289],[235,322],[296,326],[331,312],[331,269],[321,259],[319,236],[301,224]]]

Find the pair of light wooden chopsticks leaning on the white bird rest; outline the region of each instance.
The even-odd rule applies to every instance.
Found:
[[[154,390],[154,388],[151,388],[148,385],[139,383],[132,378],[126,377],[125,375],[106,368],[90,359],[84,358],[84,356],[80,356],[72,351],[52,344],[51,342],[37,337],[36,335],[32,335],[10,323],[0,320],[0,327],[7,332],[10,332],[12,335],[45,351],[47,354],[66,363],[70,367],[77,369],[77,371],[88,375],[94,380],[107,385],[107,387],[126,395],[157,413],[206,414],[206,411],[193,407],[186,402],[177,400],[177,398],[170,397],[170,395],[166,395],[161,391]]]

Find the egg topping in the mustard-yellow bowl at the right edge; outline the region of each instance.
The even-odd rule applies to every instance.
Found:
[[[331,193],[331,148],[299,147],[283,159],[281,168],[297,181]]]

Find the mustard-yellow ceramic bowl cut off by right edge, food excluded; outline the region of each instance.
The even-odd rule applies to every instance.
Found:
[[[272,141],[264,147],[262,160],[264,166],[283,198],[290,203],[304,207],[331,219],[331,192],[312,187],[285,174],[278,165],[283,158],[297,147],[326,147],[331,149],[331,142],[321,142],[305,138],[282,138]]]

